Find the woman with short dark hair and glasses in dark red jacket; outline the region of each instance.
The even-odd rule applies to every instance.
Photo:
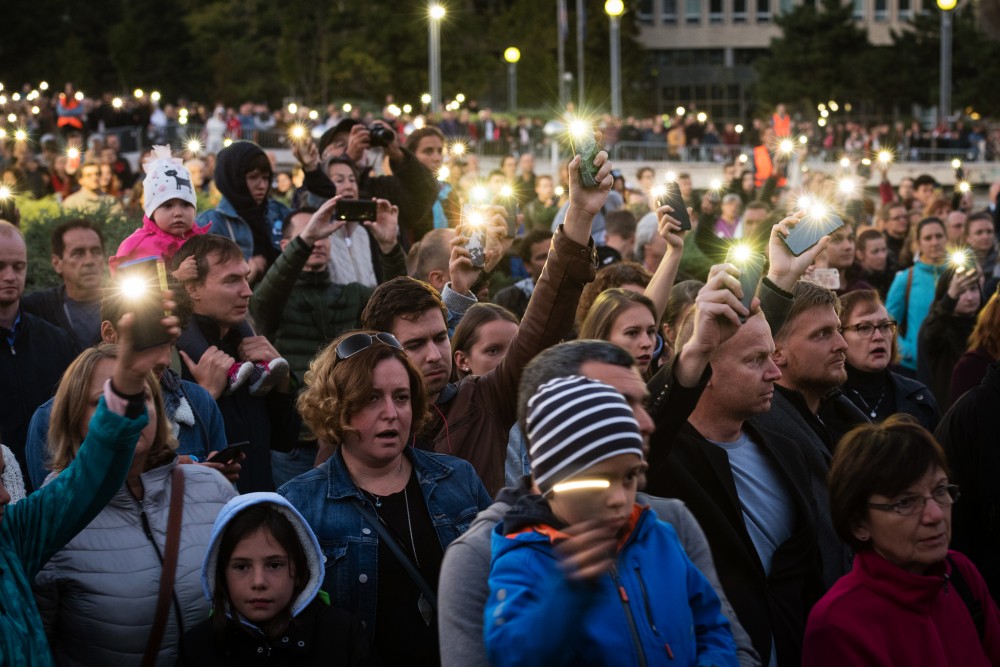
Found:
[[[837,534],[856,552],[809,614],[802,664],[1000,664],[1000,612],[976,567],[950,551],[959,499],[944,451],[907,417],[861,426],[830,465]]]

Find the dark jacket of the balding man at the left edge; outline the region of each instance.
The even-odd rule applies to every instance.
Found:
[[[65,331],[24,310],[15,330],[12,334],[0,327],[0,442],[27,470],[28,422],[35,409],[52,398],[63,371],[76,357],[76,343]],[[30,491],[27,476],[24,482]]]

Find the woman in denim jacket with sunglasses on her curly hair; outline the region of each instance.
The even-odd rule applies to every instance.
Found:
[[[432,593],[441,559],[489,506],[486,488],[466,461],[412,447],[427,392],[392,335],[339,337],[312,361],[305,382],[303,421],[339,446],[278,493],[319,538],[323,589],[335,606],[361,618],[383,664],[438,665]],[[394,539],[426,586],[409,576],[380,534]]]

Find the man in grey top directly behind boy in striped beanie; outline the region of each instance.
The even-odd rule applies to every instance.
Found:
[[[711,318],[709,318],[711,319]],[[653,420],[644,407],[647,391],[638,373],[632,366],[631,355],[621,348],[603,341],[573,341],[556,345],[541,354],[525,368],[518,391],[518,417],[523,422],[527,413],[528,399],[546,381],[567,375],[583,375],[600,380],[618,389],[632,406],[644,439],[653,430]],[[678,362],[681,364],[683,362]],[[700,368],[697,363],[688,365],[683,377],[702,377],[707,361]],[[674,376],[681,372],[674,369]],[[682,381],[674,382],[671,394],[695,392],[700,394],[704,382],[691,389]],[[685,400],[687,398],[687,400]],[[677,396],[674,401],[668,396],[664,409],[671,404],[693,405],[690,397]],[[682,408],[683,409],[683,408]],[[441,664],[444,667],[487,667],[486,648],[483,642],[483,609],[489,598],[490,572],[490,531],[504,513],[520,496],[538,493],[533,488],[530,477],[521,480],[516,487],[508,487],[497,494],[496,502],[480,512],[469,530],[452,542],[445,552],[438,584],[438,624],[441,646]],[[736,614],[725,597],[712,562],[712,554],[704,533],[697,521],[679,500],[654,498],[645,494],[636,497],[639,504],[649,505],[659,519],[670,523],[684,546],[688,557],[701,570],[719,595],[722,611],[729,620],[733,638],[736,641],[740,664],[760,665],[749,636],[740,626]]]

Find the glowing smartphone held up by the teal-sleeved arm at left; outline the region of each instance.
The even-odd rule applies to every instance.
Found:
[[[170,313],[163,308],[167,269],[159,257],[144,257],[118,267],[116,281],[123,311],[132,313],[132,347],[148,350],[164,345],[172,337],[160,323]]]

